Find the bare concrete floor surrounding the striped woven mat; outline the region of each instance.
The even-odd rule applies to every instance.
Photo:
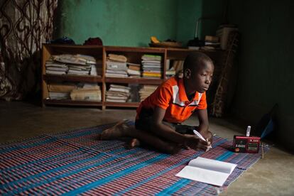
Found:
[[[39,107],[25,102],[0,101],[0,143],[46,133],[58,133],[87,126],[134,119],[135,109],[89,109]],[[245,131],[232,119],[209,118],[210,130],[223,138]],[[197,118],[187,121],[197,124]],[[294,195],[294,156],[273,147],[222,195]]]

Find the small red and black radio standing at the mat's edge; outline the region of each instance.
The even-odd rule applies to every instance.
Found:
[[[260,143],[260,137],[234,136],[233,148],[236,153],[258,153]]]

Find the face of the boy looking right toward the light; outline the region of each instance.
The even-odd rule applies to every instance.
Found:
[[[212,82],[212,75],[214,72],[214,65],[212,62],[204,61],[195,70],[187,69],[185,72],[186,78],[186,90],[189,93],[200,92],[203,93],[207,91],[210,83]]]

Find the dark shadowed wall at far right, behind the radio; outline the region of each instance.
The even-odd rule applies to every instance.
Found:
[[[236,1],[229,19],[241,31],[233,112],[256,123],[278,103],[278,141],[294,149],[294,1]]]

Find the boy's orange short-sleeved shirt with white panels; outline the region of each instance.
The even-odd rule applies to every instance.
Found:
[[[182,123],[188,119],[195,109],[206,109],[206,94],[195,92],[192,101],[189,101],[185,92],[183,79],[171,77],[161,84],[155,92],[147,97],[137,109],[136,119],[139,119],[141,109],[165,109],[163,120],[170,123]]]

